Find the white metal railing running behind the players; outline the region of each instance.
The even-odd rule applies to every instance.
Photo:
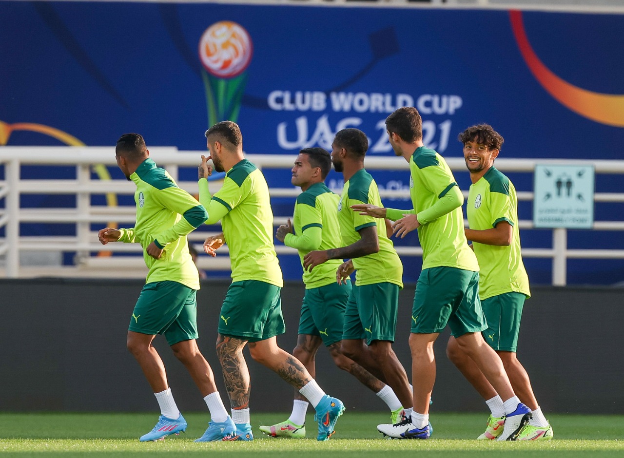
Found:
[[[175,147],[152,147],[151,157],[161,167],[177,179],[178,167],[195,167],[204,151],[180,152]],[[291,168],[294,155],[246,155],[259,168]],[[466,164],[461,157],[446,158],[452,170],[466,171]],[[368,170],[402,170],[407,173],[407,163],[397,157],[367,157]],[[568,160],[568,159],[514,159],[499,158],[496,166],[503,172],[532,173],[537,164],[593,165],[597,174],[616,173],[624,175],[624,160]],[[133,195],[134,183],[125,179],[100,180],[92,178],[92,170],[98,164],[115,165],[114,150],[109,147],[0,147],[0,164],[4,165],[4,180],[0,180],[0,199],[4,198],[4,208],[0,207],[0,228],[4,227],[5,236],[0,238],[0,260],[4,259],[5,275],[9,278],[19,276],[71,275],[71,276],[143,276],[145,270],[142,258],[135,256],[141,252],[138,244],[110,243],[100,245],[97,232],[91,230],[92,223],[106,222],[134,225],[134,206],[91,205],[92,195]],[[22,180],[22,165],[69,165],[76,167],[76,179],[54,179],[46,177]],[[197,181],[178,181],[178,185],[190,193],[197,194]],[[219,183],[210,182],[212,192],[218,190]],[[293,197],[298,195],[298,188],[271,188],[271,197]],[[409,198],[407,190],[381,190],[382,198]],[[464,191],[467,195],[467,192]],[[20,199],[27,194],[74,194],[75,208],[21,208]],[[518,192],[521,201],[532,201],[533,193]],[[595,193],[595,202],[624,203],[623,192]],[[287,216],[276,216],[274,224],[286,222]],[[28,236],[19,233],[21,223],[71,223],[76,225],[75,236]],[[520,220],[520,228],[533,228],[530,220]],[[624,231],[624,221],[597,221],[593,229],[603,231]],[[194,231],[189,240],[200,243],[207,234],[213,232]],[[522,254],[528,258],[552,259],[553,285],[566,284],[566,266],[570,258],[624,259],[624,250],[569,249],[567,230],[552,230],[552,248],[523,248]],[[224,247],[223,253],[227,253]],[[20,254],[41,250],[76,251],[76,266],[28,269],[20,265]],[[287,246],[276,246],[278,253],[295,254]],[[117,254],[132,253],[134,256],[102,256],[112,251]],[[220,250],[221,251],[221,250]],[[419,246],[397,246],[402,256],[421,256]],[[98,253],[94,256],[92,253]],[[228,256],[207,259],[200,256],[198,265],[210,270],[228,270]],[[125,269],[125,270],[124,270]],[[130,270],[130,272],[127,272]],[[67,271],[67,272],[63,272]]]

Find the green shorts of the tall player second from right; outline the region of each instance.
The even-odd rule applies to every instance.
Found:
[[[441,333],[446,325],[454,337],[487,329],[479,300],[479,272],[432,267],[416,283],[411,331]]]

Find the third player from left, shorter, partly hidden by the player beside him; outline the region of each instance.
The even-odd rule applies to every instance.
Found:
[[[331,170],[331,157],[323,148],[300,151],[292,170],[291,182],[303,191],[296,200],[293,223],[281,225],[275,238],[286,246],[297,248],[303,258],[311,250],[331,250],[341,243],[338,224],[339,196],[324,181]],[[331,354],[338,368],[353,375],[364,386],[373,390],[398,419],[403,407],[391,387],[379,381],[358,363],[340,351],[343,339],[344,309],[351,293],[351,280],[336,282],[341,260],[329,260],[313,271],[303,271],[306,293],[301,305],[297,346],[293,355],[306,366],[311,376],[316,374],[314,357],[321,343]],[[260,426],[260,431],[273,437],[305,437],[305,416],[308,402],[295,391],[293,411],[288,420],[273,426]]]

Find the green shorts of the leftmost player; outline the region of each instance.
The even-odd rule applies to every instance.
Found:
[[[155,281],[143,286],[129,331],[163,334],[169,345],[197,339],[197,291],[177,281]]]

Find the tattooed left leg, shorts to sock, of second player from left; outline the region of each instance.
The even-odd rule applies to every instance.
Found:
[[[217,356],[223,371],[225,389],[230,396],[232,409],[249,407],[251,391],[249,370],[243,357],[243,347],[247,341],[232,337],[217,337]]]

